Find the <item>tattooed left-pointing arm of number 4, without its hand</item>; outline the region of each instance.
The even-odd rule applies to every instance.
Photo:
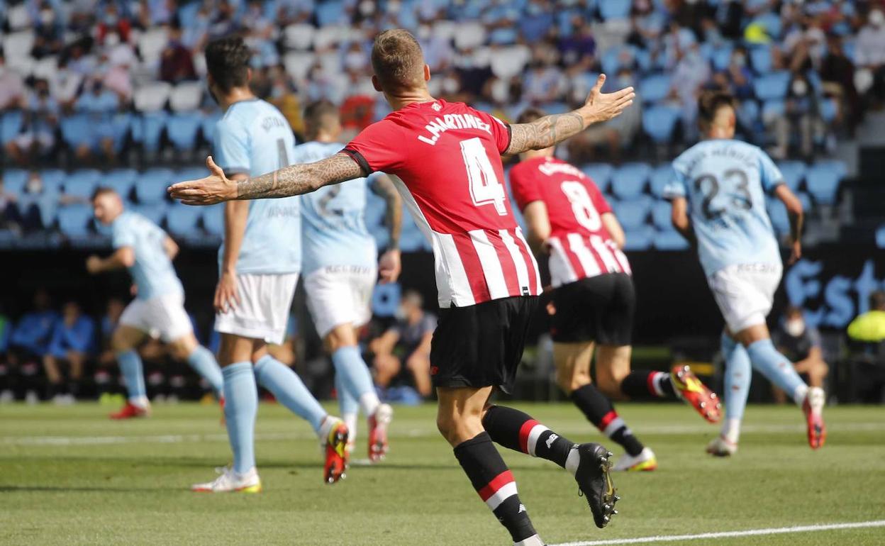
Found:
[[[316,163],[289,165],[273,173],[247,178],[236,183],[237,199],[273,199],[300,196],[329,184],[363,176],[357,162],[345,154]]]

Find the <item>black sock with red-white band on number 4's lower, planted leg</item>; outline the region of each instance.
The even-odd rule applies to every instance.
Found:
[[[489,434],[483,432],[459,443],[455,447],[455,458],[480,498],[510,532],[513,542],[535,537],[537,533],[532,520],[528,518],[526,507],[519,502],[513,474]]]

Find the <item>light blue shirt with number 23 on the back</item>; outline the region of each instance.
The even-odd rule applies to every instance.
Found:
[[[781,183],[777,165],[746,142],[698,142],[673,161],[673,181],[664,195],[688,199],[708,277],[728,265],[781,264],[765,199]]]

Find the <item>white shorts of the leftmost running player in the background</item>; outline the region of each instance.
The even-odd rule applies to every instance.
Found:
[[[181,339],[194,331],[188,312],[184,311],[183,294],[136,298],[123,310],[119,323],[141,330],[164,343]]]

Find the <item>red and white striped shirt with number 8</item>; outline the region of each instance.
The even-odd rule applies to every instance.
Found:
[[[510,186],[520,209],[535,201],[547,207],[554,288],[603,273],[630,273],[602,222],[612,208],[586,174],[557,158],[531,158],[513,166]]]

